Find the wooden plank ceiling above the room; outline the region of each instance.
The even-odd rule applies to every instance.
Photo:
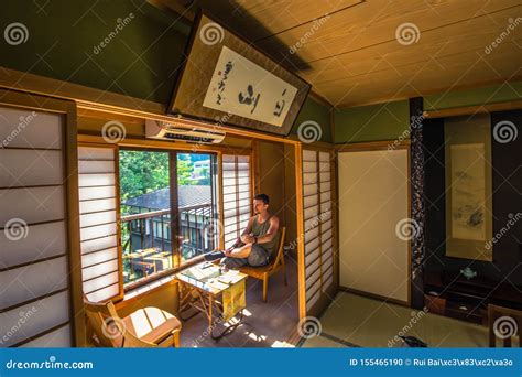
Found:
[[[520,0],[196,3],[340,108],[522,78]]]

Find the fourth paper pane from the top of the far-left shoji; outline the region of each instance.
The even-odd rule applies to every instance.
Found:
[[[65,223],[30,225],[26,237],[8,239],[0,231],[0,268],[26,263],[36,259],[65,254]]]

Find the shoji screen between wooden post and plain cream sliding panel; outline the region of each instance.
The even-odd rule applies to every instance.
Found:
[[[333,288],[334,216],[330,152],[303,150],[306,311]]]

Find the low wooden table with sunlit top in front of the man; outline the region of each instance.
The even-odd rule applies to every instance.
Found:
[[[236,313],[239,314],[237,323],[215,335],[216,325],[222,322],[224,308],[220,298],[226,289],[247,278],[247,274],[237,270],[222,272],[219,266],[209,262],[202,262],[183,270],[175,276],[181,287],[180,317],[187,321],[199,312],[204,313],[208,319],[209,333],[214,340],[231,333],[242,323],[242,309]],[[184,316],[194,310],[195,313]]]

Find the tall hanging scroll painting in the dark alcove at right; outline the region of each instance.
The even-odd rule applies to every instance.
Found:
[[[446,256],[492,260],[489,115],[446,119]]]

